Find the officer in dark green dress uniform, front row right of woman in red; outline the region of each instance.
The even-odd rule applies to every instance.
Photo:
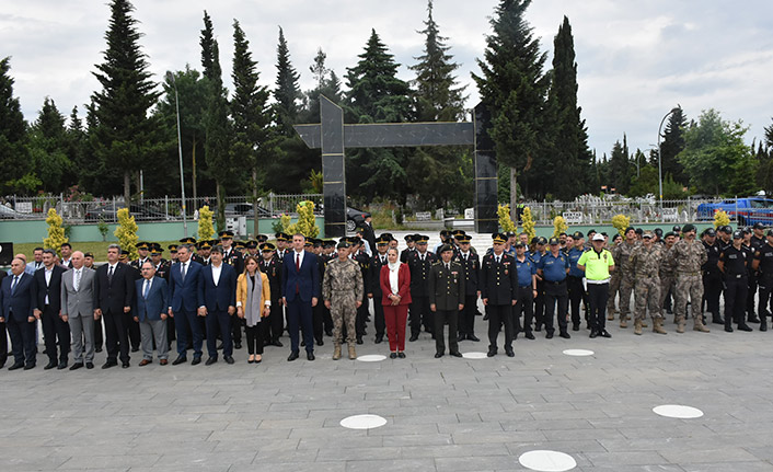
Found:
[[[453,246],[440,246],[440,261],[429,269],[428,289],[429,310],[435,319],[435,358],[446,354],[445,329],[448,323],[448,352],[453,357],[462,357],[459,352],[457,333],[459,332],[459,312],[464,309],[464,270],[453,261]]]

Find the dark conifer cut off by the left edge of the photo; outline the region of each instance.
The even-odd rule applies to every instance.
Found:
[[[32,170],[26,148],[26,123],[19,99],[13,96],[10,58],[0,60],[0,188],[3,193],[33,191],[23,187],[23,177]],[[28,179],[27,179],[28,181]]]

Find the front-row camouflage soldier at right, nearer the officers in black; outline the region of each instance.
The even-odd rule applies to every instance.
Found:
[[[703,243],[695,240],[695,227],[684,225],[682,228],[684,239],[673,245],[673,255],[677,258],[677,333],[684,333],[684,323],[688,315],[688,301],[692,302],[693,330],[708,333],[701,316],[701,300],[703,299],[703,277],[701,266],[708,256]]]

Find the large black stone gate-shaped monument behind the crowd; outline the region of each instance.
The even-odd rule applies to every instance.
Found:
[[[293,128],[311,149],[322,150],[325,235],[346,235],[347,148],[395,148],[418,146],[475,147],[475,230],[495,232],[497,218],[497,169],[494,142],[486,133],[489,115],[478,104],[473,123],[373,123],[344,124],[344,111],[320,96],[320,123]]]

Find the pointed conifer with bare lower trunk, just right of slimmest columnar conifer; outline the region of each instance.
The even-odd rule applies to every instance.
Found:
[[[252,59],[250,42],[236,20],[233,21],[233,161],[251,174],[251,191],[255,214],[254,234],[258,231],[257,194],[263,183],[265,165],[276,156],[275,130],[270,127],[268,89],[257,84],[257,62]]]

